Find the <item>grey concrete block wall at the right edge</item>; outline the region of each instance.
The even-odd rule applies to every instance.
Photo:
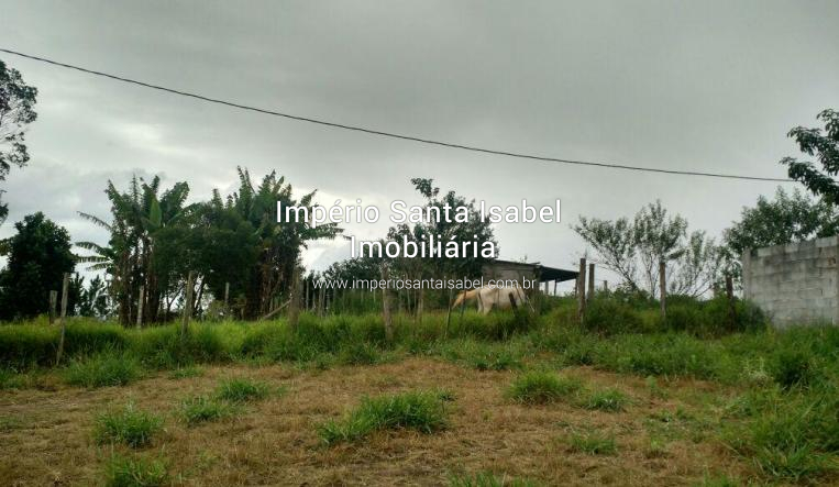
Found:
[[[776,326],[839,324],[838,257],[837,236],[746,252],[743,297]]]

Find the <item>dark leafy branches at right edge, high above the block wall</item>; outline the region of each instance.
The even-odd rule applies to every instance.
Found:
[[[792,179],[802,182],[814,195],[829,204],[839,203],[839,185],[834,179],[839,174],[839,112],[825,110],[816,117],[825,122],[825,130],[796,126],[787,134],[795,139],[801,151],[816,157],[821,169],[812,161],[784,157],[781,164],[788,167]]]

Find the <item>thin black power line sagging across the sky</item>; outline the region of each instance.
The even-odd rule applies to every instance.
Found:
[[[301,115],[294,115],[290,113],[284,113],[276,110],[268,110],[264,108],[258,107],[252,107],[247,104],[236,103],[233,101],[228,100],[221,100],[218,98],[211,98],[206,97],[203,95],[192,93],[189,91],[183,91],[177,90],[174,88],[166,88],[164,86],[159,85],[153,85],[151,82],[140,81],[132,78],[125,78],[123,76],[117,76],[117,75],[110,75],[108,73],[97,71],[93,69],[82,68],[80,66],[75,66],[71,64],[65,64],[59,63],[57,60],[47,59],[44,57],[33,56],[30,54],[19,53],[16,51],[5,49],[0,47],[0,52],[12,54],[20,57],[25,57],[27,59],[37,60],[41,63],[46,63],[53,66],[59,66],[67,69],[74,69],[77,71],[86,73],[88,75],[93,76],[101,76],[104,78],[113,79],[117,81],[128,82],[131,85],[142,86],[144,88],[151,88],[158,91],[165,91],[173,95],[179,95],[181,97],[188,97],[194,98],[196,100],[207,101],[210,103],[218,103],[223,104],[227,107],[238,108],[240,110],[249,110],[257,113],[263,113],[267,115],[274,115],[274,117],[281,117],[284,119],[295,120],[298,122],[308,122],[313,123],[317,125],[323,125],[323,126],[330,126],[333,129],[343,129],[354,132],[363,132],[366,134],[372,135],[379,135],[384,137],[390,137],[390,139],[399,139],[402,141],[411,141],[411,142],[418,142],[422,144],[430,144],[430,145],[438,145],[442,147],[450,147],[450,148],[460,148],[463,151],[472,151],[477,153],[484,153],[484,154],[495,154],[500,156],[507,156],[507,157],[516,157],[521,159],[531,159],[531,161],[541,161],[547,163],[559,163],[559,164],[571,164],[576,166],[594,166],[594,167],[604,167],[609,169],[625,169],[625,170],[639,170],[639,171],[645,171],[645,173],[660,173],[660,174],[673,174],[673,175],[680,175],[680,176],[705,176],[705,177],[715,177],[715,178],[725,178],[725,179],[747,179],[747,180],[753,180],[753,181],[772,181],[772,182],[794,182],[792,179],[785,179],[785,178],[770,178],[770,177],[759,177],[759,176],[743,176],[743,175],[736,175],[736,174],[722,174],[722,173],[704,173],[704,171],[695,171],[695,170],[677,170],[677,169],[661,169],[655,167],[642,167],[642,166],[630,166],[626,164],[612,164],[612,163],[605,163],[605,162],[592,162],[592,161],[577,161],[577,159],[563,159],[560,157],[548,157],[548,156],[539,156],[533,154],[525,154],[525,153],[517,153],[517,152],[509,152],[509,151],[498,151],[493,148],[485,148],[485,147],[477,147],[474,145],[463,145],[463,144],[455,144],[451,142],[443,142],[443,141],[435,141],[431,139],[422,139],[413,135],[404,135],[398,134],[394,132],[385,132],[380,130],[375,129],[367,129],[364,126],[358,125],[346,125],[343,123],[338,122],[330,122],[327,120],[320,120],[320,119],[312,119],[310,117],[301,117]]]

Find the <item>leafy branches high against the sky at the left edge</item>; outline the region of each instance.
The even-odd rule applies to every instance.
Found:
[[[0,181],[12,166],[23,167],[29,161],[24,133],[37,117],[33,109],[36,96],[37,89],[23,82],[20,71],[0,60]],[[0,223],[8,213],[0,203]]]

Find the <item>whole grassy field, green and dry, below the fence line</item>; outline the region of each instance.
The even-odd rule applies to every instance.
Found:
[[[839,483],[839,329],[467,312],[0,326],[12,485]]]

